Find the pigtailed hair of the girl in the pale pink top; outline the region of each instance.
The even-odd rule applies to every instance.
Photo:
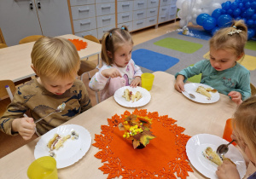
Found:
[[[124,43],[131,43],[133,41],[131,34],[126,26],[121,28],[113,28],[108,32],[105,32],[102,37],[102,61],[104,61],[108,66],[113,64],[113,58],[108,56],[108,51],[112,54]]]

